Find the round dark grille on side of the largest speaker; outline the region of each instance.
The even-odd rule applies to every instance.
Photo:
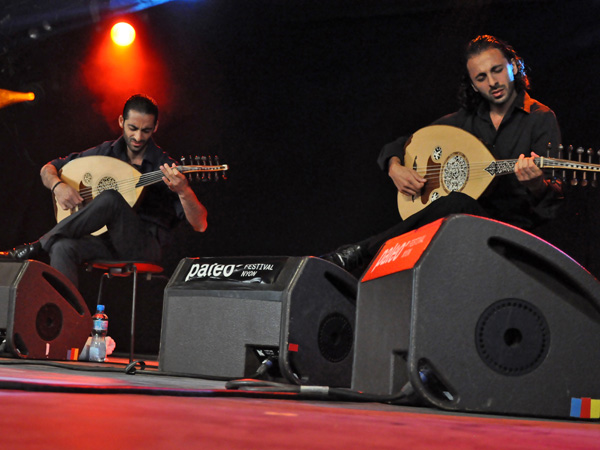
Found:
[[[509,376],[535,370],[550,348],[550,330],[541,311],[529,302],[504,299],[490,305],[477,322],[475,343],[481,359]]]

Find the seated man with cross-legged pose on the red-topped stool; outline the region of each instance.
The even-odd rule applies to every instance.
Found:
[[[6,256],[26,260],[46,251],[50,264],[77,286],[78,268],[85,261],[159,262],[171,244],[171,230],[179,221],[186,219],[195,231],[206,230],[206,208],[186,177],[175,169],[175,161],[152,139],[158,128],[156,102],[145,95],[132,96],[125,103],[119,126],[123,129],[119,139],[55,159],[42,167],[42,182],[51,190],[57,206],[71,210],[84,201],[78,190],[60,178],[61,169],[77,158],[93,155],[117,158],[142,173],[161,171],[163,183],[147,186],[136,209],[132,209],[118,191],[105,190],[38,241],[16,247]],[[91,235],[104,226],[108,231],[99,236]]]

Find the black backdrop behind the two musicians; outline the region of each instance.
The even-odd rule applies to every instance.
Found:
[[[186,256],[318,255],[393,224],[396,194],[378,151],[456,109],[462,48],[478,34],[524,57],[532,95],[554,109],[565,144],[598,150],[598,17],[597,1],[541,0],[207,0],[137,13],[171,74],[158,144],[231,166],[226,182],[196,187],[209,228],[177,230],[167,273]],[[0,110],[2,248],[52,226],[45,162],[118,135],[116,117],[102,116],[79,79],[102,29],[84,22],[2,48],[0,88],[41,93]],[[569,189],[560,218],[540,230],[596,276],[599,195]],[[97,283],[83,275],[90,305]],[[106,300],[123,351],[127,286],[117,281]],[[142,288],[142,352],[158,349],[162,288]]]

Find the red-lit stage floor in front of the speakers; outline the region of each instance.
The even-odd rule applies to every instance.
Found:
[[[3,448],[598,448],[598,421],[228,390],[106,363],[0,359]]]

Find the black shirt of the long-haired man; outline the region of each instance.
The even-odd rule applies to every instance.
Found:
[[[535,152],[556,157],[561,143],[560,130],[554,112],[526,92],[518,94],[513,105],[496,130],[490,118],[487,102],[476,111],[459,111],[436,120],[434,125],[451,125],[476,136],[496,159],[516,159],[520,154],[530,156]],[[387,171],[392,156],[404,159],[407,137],[387,144],[381,150],[378,164]],[[555,182],[542,198],[535,198],[514,175],[497,177],[490,188],[479,198],[480,204],[491,217],[525,229],[531,229],[556,216],[562,191]]]

